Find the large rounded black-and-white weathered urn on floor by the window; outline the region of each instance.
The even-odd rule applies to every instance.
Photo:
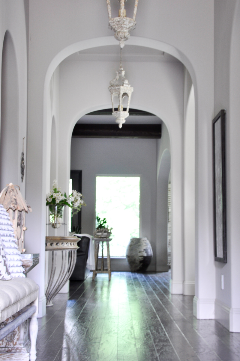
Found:
[[[153,250],[149,240],[147,238],[131,238],[126,257],[132,272],[146,271],[153,257]]]

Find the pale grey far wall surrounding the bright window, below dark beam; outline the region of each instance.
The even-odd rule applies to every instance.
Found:
[[[82,233],[93,234],[97,175],[140,175],[140,237],[153,248],[156,263],[156,140],[73,138],[71,169],[82,170]]]

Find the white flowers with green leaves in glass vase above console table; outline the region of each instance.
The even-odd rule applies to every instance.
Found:
[[[72,194],[66,195],[66,192],[61,193],[57,186],[57,181],[53,181],[52,189],[46,196],[46,205],[49,208],[49,223],[53,228],[59,228],[63,223],[63,209],[67,205],[72,208],[72,216],[80,211],[82,205],[86,203],[82,199],[82,194],[72,190]]]

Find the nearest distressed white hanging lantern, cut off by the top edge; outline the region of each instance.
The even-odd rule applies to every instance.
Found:
[[[125,40],[128,40],[130,37],[130,31],[136,27],[136,14],[137,14],[137,5],[138,0],[135,0],[133,18],[128,18],[126,16],[126,10],[124,8],[125,1],[127,0],[118,0],[120,2],[119,16],[117,18],[112,18],[111,14],[111,3],[110,0],[107,1],[107,10],[109,17],[109,27],[112,29],[115,34],[115,39],[119,40],[120,47],[124,47]]]

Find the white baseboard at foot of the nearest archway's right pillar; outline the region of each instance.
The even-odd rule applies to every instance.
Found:
[[[215,318],[215,299],[193,298],[193,314],[198,319]]]

